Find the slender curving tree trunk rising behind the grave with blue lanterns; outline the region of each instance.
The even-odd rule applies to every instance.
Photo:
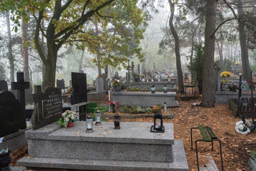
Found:
[[[175,41],[175,56],[176,56],[176,68],[178,73],[178,91],[180,93],[184,92],[184,84],[183,84],[183,71],[181,69],[181,62],[180,62],[180,39],[178,37],[177,32],[175,31],[175,28],[173,26],[173,16],[174,16],[174,4],[172,0],[168,0],[170,4],[170,20],[169,20],[169,26],[170,26],[170,32],[173,34],[173,38]]]

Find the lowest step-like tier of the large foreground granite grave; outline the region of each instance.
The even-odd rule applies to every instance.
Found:
[[[18,165],[27,167],[29,170],[189,170],[183,140],[174,140],[173,162],[134,162],[118,160],[80,160],[68,158],[24,157],[18,161]]]

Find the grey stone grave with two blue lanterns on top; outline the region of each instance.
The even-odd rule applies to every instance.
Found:
[[[113,92],[113,100],[118,101],[120,106],[131,106],[131,105],[139,105],[139,106],[153,106],[161,103],[163,105],[166,102],[167,107],[178,107],[179,103],[175,100],[176,93],[168,92],[168,93],[144,93],[144,92]]]

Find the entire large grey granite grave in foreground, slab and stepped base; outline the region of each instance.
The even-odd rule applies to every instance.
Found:
[[[153,123],[121,123],[121,130],[103,123],[93,125],[93,133],[86,133],[86,122],[73,128],[56,124],[26,131],[30,158],[18,165],[31,170],[188,170],[183,141],[174,140],[172,123],[164,123],[165,133],[150,133]]]

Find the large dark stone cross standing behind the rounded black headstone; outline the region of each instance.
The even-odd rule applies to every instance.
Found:
[[[24,73],[17,73],[17,82],[11,82],[11,90],[18,90],[18,100],[26,110],[25,89],[29,89],[29,82],[24,82]]]

